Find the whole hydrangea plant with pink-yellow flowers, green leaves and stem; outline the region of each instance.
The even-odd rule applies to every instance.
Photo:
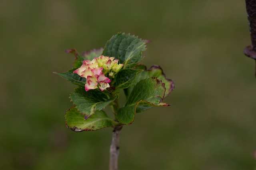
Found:
[[[73,68],[57,73],[78,87],[70,94],[73,107],[66,111],[66,125],[75,132],[95,131],[112,127],[110,170],[118,169],[119,135],[123,125],[134,121],[135,114],[153,106],[170,106],[162,102],[174,89],[174,82],[166,78],[160,66],[149,69],[138,63],[144,58],[149,40],[125,33],[111,37],[105,48],[86,51],[66,50],[75,56]],[[120,90],[126,103],[120,106]],[[109,106],[110,118],[103,110]]]

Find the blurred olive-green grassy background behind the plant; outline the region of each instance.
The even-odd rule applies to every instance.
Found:
[[[120,170],[252,170],[255,62],[241,0],[1,0],[0,169],[106,170],[112,129],[74,133],[64,114],[76,87],[52,74],[64,50],[104,47],[117,32],[152,43],[170,107],[138,113],[120,139]]]

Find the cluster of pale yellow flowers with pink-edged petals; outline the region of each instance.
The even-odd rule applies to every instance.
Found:
[[[113,76],[114,72],[119,72],[122,66],[124,64],[118,64],[118,60],[114,60],[114,57],[101,55],[100,57],[95,57],[92,61],[84,60],[82,66],[74,70],[73,73],[86,78],[86,91],[98,87],[101,91],[104,91],[110,87],[110,79],[105,74]]]

